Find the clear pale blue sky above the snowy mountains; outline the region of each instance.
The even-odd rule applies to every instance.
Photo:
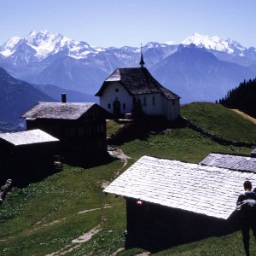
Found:
[[[255,0],[0,0],[0,45],[47,29],[94,46],[183,41],[194,32],[256,47]]]

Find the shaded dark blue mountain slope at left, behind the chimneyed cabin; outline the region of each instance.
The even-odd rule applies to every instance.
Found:
[[[38,102],[60,102],[61,93],[70,102],[93,102],[93,96],[61,89],[55,85],[32,84],[15,79],[0,67],[0,131],[20,130],[20,116]]]

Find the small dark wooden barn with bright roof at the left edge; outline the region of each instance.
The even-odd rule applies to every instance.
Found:
[[[0,133],[0,182],[23,185],[53,172],[59,140],[41,130]]]

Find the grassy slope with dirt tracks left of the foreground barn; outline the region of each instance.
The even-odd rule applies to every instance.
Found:
[[[99,224],[100,234],[79,247],[79,255],[121,247],[125,201],[102,193],[102,183],[121,166],[116,160],[87,170],[65,166],[40,183],[13,189],[0,208],[0,254],[45,255],[73,247],[74,238]]]

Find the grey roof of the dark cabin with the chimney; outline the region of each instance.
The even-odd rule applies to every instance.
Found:
[[[79,119],[92,106],[102,108],[93,102],[62,103],[62,102],[38,102],[36,106],[22,115],[25,119]],[[107,111],[102,108],[104,113]]]

